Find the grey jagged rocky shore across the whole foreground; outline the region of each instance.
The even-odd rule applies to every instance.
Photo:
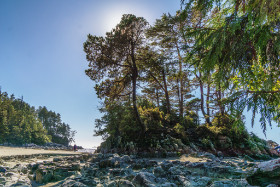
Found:
[[[277,186],[280,159],[193,152],[180,157],[80,154],[2,157],[0,186]]]

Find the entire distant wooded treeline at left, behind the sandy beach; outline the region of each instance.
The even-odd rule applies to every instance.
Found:
[[[35,109],[7,92],[0,90],[0,143],[42,145],[54,142],[68,145],[74,140],[75,131],[61,121],[59,113],[46,107]]]

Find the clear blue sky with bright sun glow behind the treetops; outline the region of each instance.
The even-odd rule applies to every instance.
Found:
[[[0,0],[0,86],[60,113],[77,131],[78,145],[96,146],[101,138],[92,136],[94,120],[101,114],[94,83],[84,73],[87,35],[104,35],[122,14],[152,24],[179,8],[180,0]],[[255,133],[264,138],[257,126]],[[277,142],[279,135],[276,127],[267,132]]]

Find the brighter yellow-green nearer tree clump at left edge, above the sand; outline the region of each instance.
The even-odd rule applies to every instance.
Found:
[[[44,144],[49,141],[35,108],[0,90],[0,143]]]

